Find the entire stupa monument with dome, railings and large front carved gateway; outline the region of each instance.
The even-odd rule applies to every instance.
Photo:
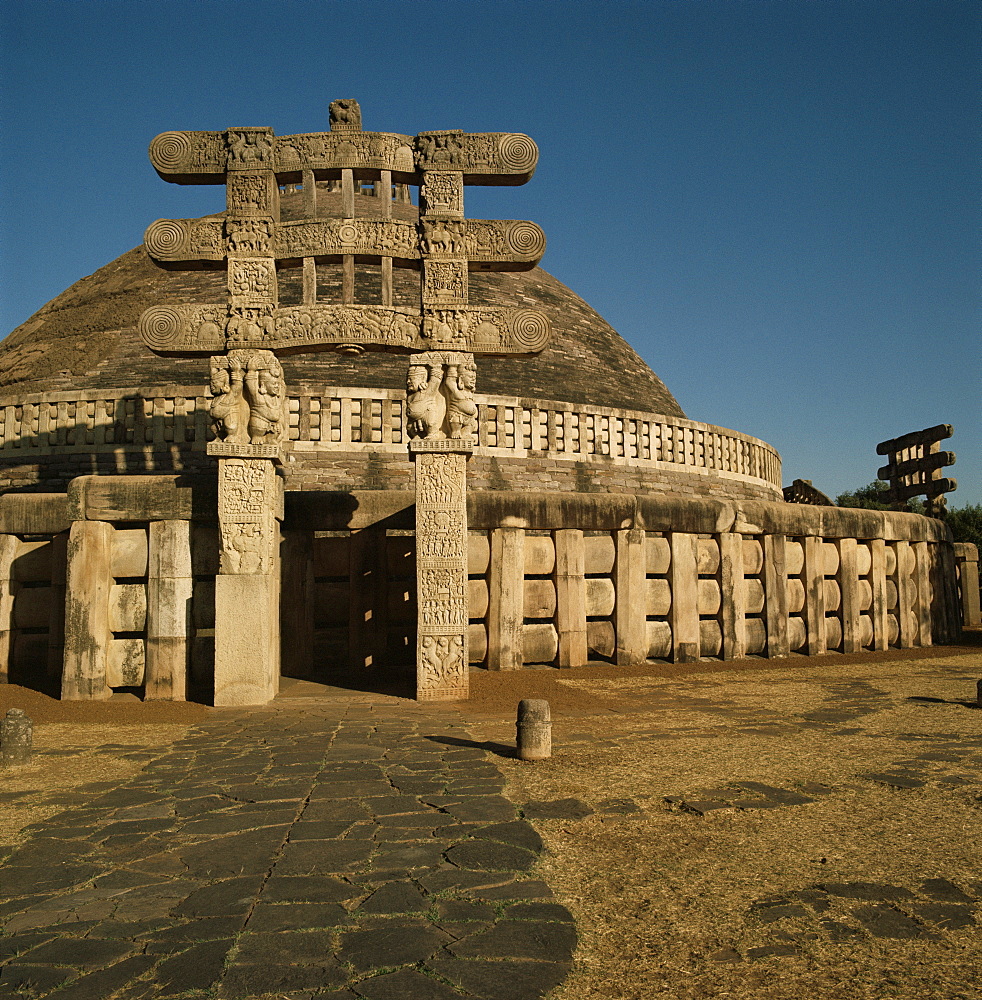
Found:
[[[534,222],[465,216],[532,139],[329,119],[157,136],[225,212],[151,222],[0,345],[3,679],[445,700],[480,669],[957,639],[977,562],[942,522],[785,502],[777,452],[687,419]]]

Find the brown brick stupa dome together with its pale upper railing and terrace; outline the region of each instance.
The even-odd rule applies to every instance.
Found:
[[[317,217],[342,218],[335,181],[318,181]],[[414,221],[409,188],[388,206]],[[280,217],[305,217],[307,194],[280,187]],[[385,214],[372,182],[357,217]],[[149,221],[149,220],[148,220]],[[377,263],[356,258],[354,301],[377,304]],[[393,268],[393,304],[418,309],[419,272]],[[319,262],[317,301],[341,298],[342,265]],[[281,306],[303,301],[299,267],[277,274]],[[686,418],[661,379],[586,302],[540,267],[474,270],[475,306],[532,308],[552,327],[541,353],[477,359],[475,489],[781,498],[768,444]],[[161,356],[138,324],[154,306],[224,303],[223,268],[169,270],[141,245],[75,282],[0,343],[0,486],[63,490],[86,473],[210,474],[206,356]],[[223,307],[224,308],[224,307]],[[407,356],[320,350],[281,355],[289,396],[288,490],[411,487]]]

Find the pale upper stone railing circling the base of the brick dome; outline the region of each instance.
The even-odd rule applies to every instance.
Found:
[[[481,394],[477,400],[477,454],[602,460],[781,487],[777,451],[737,431],[600,406]],[[0,460],[79,449],[204,452],[214,437],[210,401],[202,386],[0,398]],[[301,388],[288,405],[288,449],[294,452],[405,453],[405,394],[398,390]]]

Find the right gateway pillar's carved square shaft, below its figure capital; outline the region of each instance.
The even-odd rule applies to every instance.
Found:
[[[416,697],[466,698],[467,459],[470,439],[415,440]]]

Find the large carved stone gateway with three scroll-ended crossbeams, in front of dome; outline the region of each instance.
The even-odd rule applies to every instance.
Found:
[[[270,128],[165,132],[150,160],[165,180],[226,185],[222,219],[160,219],[146,232],[167,268],[224,267],[224,303],[154,306],[140,319],[159,354],[211,355],[219,438],[220,575],[215,704],[261,704],[279,677],[277,471],[286,386],[274,352],[412,353],[406,424],[416,469],[417,695],[467,695],[466,463],[477,433],[474,354],[541,351],[550,328],[524,306],[471,307],[468,273],[525,271],[545,252],[533,222],[464,218],[467,184],[524,184],[538,150],[525,135],[364,132],[357,101],[330,106],[330,132]],[[355,181],[374,180],[382,218],[355,218]],[[340,182],[343,218],[318,219],[317,182]],[[281,184],[301,183],[306,218],[281,223]],[[392,218],[392,185],[418,184],[419,223]],[[355,259],[378,261],[377,304],[356,304]],[[342,265],[340,303],[317,301],[318,263]],[[393,266],[420,273],[419,299],[394,304]],[[278,270],[303,268],[303,304],[281,307]]]

